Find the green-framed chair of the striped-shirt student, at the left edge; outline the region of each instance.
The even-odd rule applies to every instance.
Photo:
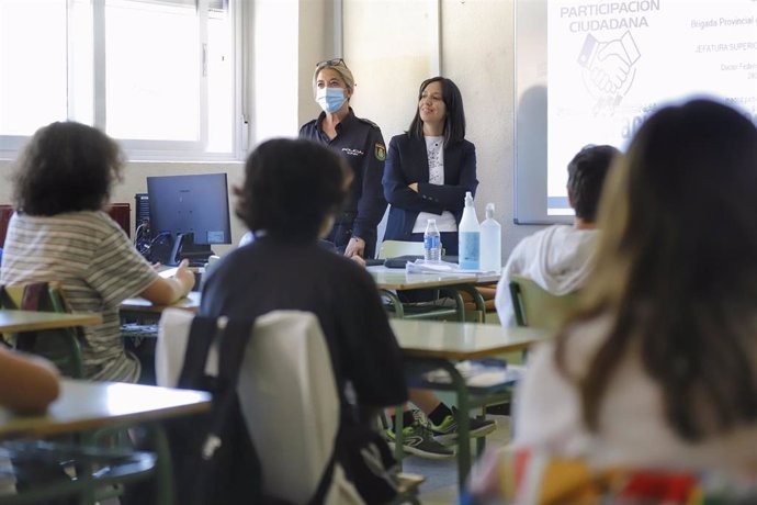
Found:
[[[60,283],[35,282],[0,287],[0,307],[25,311],[70,313]],[[19,350],[31,352],[53,361],[60,373],[74,379],[83,378],[80,327],[23,332],[7,335],[5,339]]]

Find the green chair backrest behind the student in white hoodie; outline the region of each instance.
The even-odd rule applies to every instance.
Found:
[[[510,294],[518,326],[557,332],[576,307],[579,291],[555,295],[531,279],[513,274],[510,280]]]

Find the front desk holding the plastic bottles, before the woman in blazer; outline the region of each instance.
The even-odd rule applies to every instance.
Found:
[[[457,307],[455,311],[457,321],[465,321],[465,308],[460,292],[466,292],[473,299],[476,311],[481,314],[481,323],[484,323],[486,319],[486,305],[484,298],[475,289],[475,285],[499,281],[499,274],[496,272],[407,273],[404,269],[386,268],[384,266],[368,267],[368,271],[373,277],[382,294],[389,299],[395,314],[399,318],[405,316],[405,307],[394,291],[445,288],[451,290],[454,295]]]

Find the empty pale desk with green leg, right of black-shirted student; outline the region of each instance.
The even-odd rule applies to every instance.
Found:
[[[408,364],[417,364],[426,370],[442,368],[450,373],[451,386],[457,396],[460,440],[470,440],[470,391],[454,363],[524,350],[552,337],[550,332],[543,329],[504,328],[500,325],[475,323],[392,319],[391,325]],[[459,442],[457,476],[461,490],[470,471],[471,444]]]

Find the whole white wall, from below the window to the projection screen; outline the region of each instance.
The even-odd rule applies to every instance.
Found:
[[[245,0],[248,1],[248,0]],[[502,255],[538,226],[512,224],[513,5],[512,0],[341,0],[343,54],[337,54],[334,0],[257,0],[247,3],[249,149],[271,136],[295,136],[315,117],[316,61],[343,56],[354,72],[352,105],[376,122],[388,143],[409,125],[418,85],[441,71],[460,87],[467,137],[478,157],[478,217],[495,202],[502,224]],[[148,175],[227,171],[242,180],[241,162],[132,162],[113,201],[134,204]],[[0,203],[10,202],[10,162],[0,160]],[[132,220],[134,221],[134,220]],[[244,227],[233,217],[233,236]],[[225,249],[219,247],[218,249]]]

